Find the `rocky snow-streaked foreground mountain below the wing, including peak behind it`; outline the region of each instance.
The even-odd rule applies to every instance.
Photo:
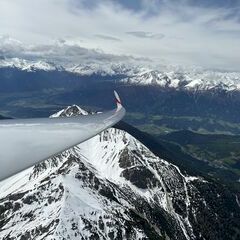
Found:
[[[1,182],[0,238],[234,239],[240,206],[223,189],[110,128]]]

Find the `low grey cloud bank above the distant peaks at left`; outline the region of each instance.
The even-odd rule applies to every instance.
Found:
[[[0,36],[0,59],[23,58],[26,60],[44,60],[63,66],[79,63],[114,63],[114,62],[150,62],[146,58],[129,55],[104,53],[99,49],[81,47],[71,41],[59,39],[51,44],[26,45],[8,36]]]

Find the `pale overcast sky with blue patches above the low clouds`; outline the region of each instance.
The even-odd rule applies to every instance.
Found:
[[[240,71],[240,0],[0,0],[0,36],[3,53],[62,44]]]

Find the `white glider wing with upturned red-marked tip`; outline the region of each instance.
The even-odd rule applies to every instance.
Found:
[[[0,181],[67,150],[119,122],[125,115],[115,92],[117,108],[105,113],[61,118],[0,121]]]

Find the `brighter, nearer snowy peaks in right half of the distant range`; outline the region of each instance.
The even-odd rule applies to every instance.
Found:
[[[144,70],[123,80],[128,84],[157,85],[178,90],[240,90],[240,73],[216,71]]]

